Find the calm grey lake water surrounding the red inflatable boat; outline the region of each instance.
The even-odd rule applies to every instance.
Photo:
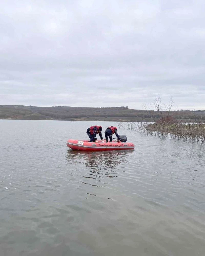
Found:
[[[0,121],[0,255],[204,255],[205,145],[119,129],[134,151],[68,149],[96,124],[116,125]]]

